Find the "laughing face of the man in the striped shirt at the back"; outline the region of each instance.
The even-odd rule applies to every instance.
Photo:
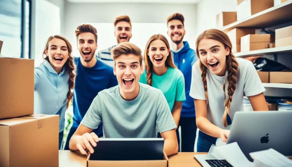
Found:
[[[114,28],[114,36],[117,37],[118,44],[121,42],[129,42],[130,38],[132,38],[130,23],[119,21]]]

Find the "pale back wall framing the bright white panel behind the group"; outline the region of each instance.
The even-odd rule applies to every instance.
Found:
[[[194,48],[196,38],[196,4],[142,4],[142,3],[92,3],[74,4],[65,1],[65,28],[64,35],[76,47],[76,37],[74,30],[81,23],[112,23],[112,33],[114,36],[114,19],[121,15],[128,15],[132,23],[165,23],[166,18],[173,13],[181,13],[185,17],[185,29],[187,40]],[[99,32],[98,34],[102,33]],[[140,32],[143,33],[143,32]],[[161,32],[163,33],[163,32]],[[99,41],[98,41],[99,42]],[[131,40],[130,40],[131,42]],[[146,43],[147,41],[145,41]],[[116,43],[113,43],[114,45]],[[105,49],[105,48],[98,48]],[[143,50],[143,48],[141,48]],[[78,56],[78,55],[74,55]]]

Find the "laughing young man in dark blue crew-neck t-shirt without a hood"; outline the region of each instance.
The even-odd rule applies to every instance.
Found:
[[[69,140],[77,130],[82,118],[98,92],[118,85],[113,68],[97,60],[97,31],[89,24],[79,25],[75,31],[80,58],[75,57],[77,68],[73,92],[73,125],[69,131],[65,149],[69,149]],[[102,124],[94,132],[102,137]]]

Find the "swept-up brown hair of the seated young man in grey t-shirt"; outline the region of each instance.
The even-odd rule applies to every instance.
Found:
[[[112,59],[114,60],[114,66],[116,66],[115,60],[121,54],[126,54],[126,55],[133,54],[133,55],[139,56],[139,63],[140,63],[140,66],[142,66],[143,57],[141,53],[142,53],[141,49],[130,42],[122,42],[121,44],[114,47],[111,51]]]

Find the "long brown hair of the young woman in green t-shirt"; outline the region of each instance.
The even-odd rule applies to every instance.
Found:
[[[168,66],[168,67],[172,67],[172,68],[177,68],[173,62],[173,58],[172,58],[172,54],[171,54],[171,51],[170,51],[170,47],[169,47],[169,43],[166,39],[166,37],[164,37],[163,35],[161,34],[155,34],[155,35],[152,35],[152,37],[150,37],[150,39],[148,40],[147,44],[146,44],[146,47],[145,47],[145,51],[144,51],[144,65],[145,65],[145,70],[146,70],[146,78],[147,78],[147,84],[152,86],[152,71],[153,71],[153,64],[150,60],[150,57],[147,55],[148,54],[148,51],[149,51],[149,47],[150,47],[150,44],[151,42],[155,41],[155,40],[161,40],[165,43],[167,49],[169,50],[169,54],[166,58],[166,61],[165,61],[165,65]]]

